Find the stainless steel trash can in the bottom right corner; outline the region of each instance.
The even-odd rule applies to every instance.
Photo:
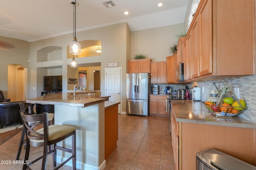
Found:
[[[196,154],[197,170],[256,170],[256,166],[216,149],[205,149]]]

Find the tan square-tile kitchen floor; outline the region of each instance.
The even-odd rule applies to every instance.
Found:
[[[174,170],[171,135],[168,117],[119,116],[117,148],[106,160],[104,170]],[[21,170],[22,165],[13,161],[16,158],[21,132],[0,146],[0,169]],[[24,158],[22,149],[20,161]],[[30,159],[42,155],[42,147],[30,150]],[[3,162],[8,160],[11,163]],[[40,169],[42,161],[31,168]],[[4,164],[3,164],[4,163]],[[48,155],[47,169],[52,167],[52,154]],[[60,170],[71,170],[63,166]]]

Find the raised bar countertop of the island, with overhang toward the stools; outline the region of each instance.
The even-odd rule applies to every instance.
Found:
[[[72,92],[64,92],[64,93],[51,93],[45,96],[39,96],[37,98],[26,100],[26,102],[36,103],[36,104],[52,104],[52,105],[86,107],[86,106],[90,106],[100,102],[104,102],[106,100],[107,99],[103,98],[103,96],[73,97]]]

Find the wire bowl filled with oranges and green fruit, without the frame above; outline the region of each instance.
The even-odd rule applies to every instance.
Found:
[[[214,102],[202,102],[204,106],[214,115],[216,116],[235,116],[244,110],[248,109],[248,107],[234,107],[228,106],[225,103],[220,103],[216,105]],[[238,110],[239,109],[239,110]]]

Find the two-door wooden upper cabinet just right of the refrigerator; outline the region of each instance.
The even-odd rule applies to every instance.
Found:
[[[150,83],[151,84],[167,83],[166,63],[167,63],[166,61],[151,62],[151,74],[150,74]]]

